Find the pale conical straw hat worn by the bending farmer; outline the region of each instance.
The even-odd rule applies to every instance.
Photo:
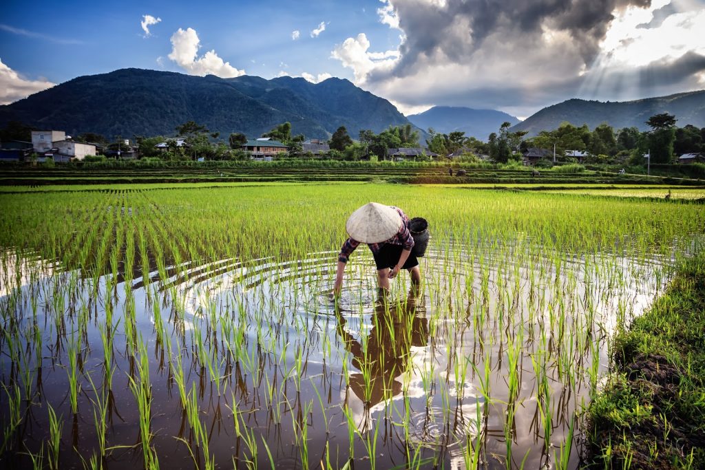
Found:
[[[396,235],[401,227],[401,216],[390,206],[370,202],[353,212],[345,223],[353,240],[362,243],[386,242]]]

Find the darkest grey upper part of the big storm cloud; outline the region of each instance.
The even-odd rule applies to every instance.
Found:
[[[589,64],[599,52],[615,8],[650,6],[651,0],[448,0],[440,7],[422,0],[392,0],[392,4],[406,35],[392,74],[404,76],[414,73],[420,58],[440,52],[450,61],[470,60],[489,37],[532,40],[544,27],[568,32]]]

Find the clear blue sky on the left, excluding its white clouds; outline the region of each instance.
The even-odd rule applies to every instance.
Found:
[[[183,72],[167,58],[169,38],[178,28],[191,27],[200,39],[201,52],[214,49],[248,75],[271,78],[284,70],[291,75],[330,73],[352,78],[350,70],[330,57],[336,43],[360,31],[384,47],[399,43],[398,32],[379,23],[378,7],[376,0],[10,1],[0,6],[0,25],[7,27],[0,29],[0,59],[23,75],[56,83],[125,67]],[[149,26],[149,37],[140,25],[144,15],[161,19]],[[38,22],[37,16],[47,18],[47,23]],[[310,37],[321,22],[326,30]],[[300,31],[296,41],[291,37],[295,30]]]

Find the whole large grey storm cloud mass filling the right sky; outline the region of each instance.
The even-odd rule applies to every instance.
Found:
[[[678,11],[694,11],[705,0],[673,1]],[[614,51],[601,50],[615,11],[650,7],[650,0],[391,5],[404,32],[399,60],[361,70],[369,89],[402,106],[469,106],[529,116],[574,97],[624,101],[702,87],[705,56],[686,52],[692,46],[680,50],[680,58],[646,66],[629,66],[611,57]],[[621,47],[634,41],[625,37]],[[679,51],[678,44],[671,51]]]

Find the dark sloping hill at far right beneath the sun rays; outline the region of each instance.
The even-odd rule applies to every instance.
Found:
[[[529,136],[541,130],[558,128],[568,121],[573,125],[587,124],[594,129],[608,123],[615,129],[630,128],[648,130],[646,120],[658,113],[670,113],[678,119],[678,127],[692,124],[705,127],[705,90],[672,94],[668,97],[638,99],[636,101],[586,101],[569,99],[548,106],[515,125],[512,130],[527,130]]]

